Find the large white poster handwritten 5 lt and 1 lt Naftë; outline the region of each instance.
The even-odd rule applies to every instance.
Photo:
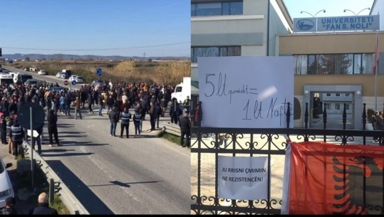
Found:
[[[198,58],[202,127],[279,128],[294,124],[294,57]]]

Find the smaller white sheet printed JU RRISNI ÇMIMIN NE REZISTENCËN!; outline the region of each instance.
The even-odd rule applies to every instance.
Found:
[[[267,157],[219,156],[219,197],[238,200],[267,199],[267,163]]]

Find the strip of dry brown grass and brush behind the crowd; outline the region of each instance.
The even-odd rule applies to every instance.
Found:
[[[46,60],[41,62],[14,63],[12,67],[24,69],[36,65],[38,69],[44,69],[48,75],[56,75],[63,69],[73,71],[73,75],[81,75],[87,83],[98,79],[96,68],[103,71],[100,79],[113,82],[125,81],[158,83],[176,85],[182,81],[182,77],[190,76],[190,61],[172,60],[165,62],[147,62],[124,60],[109,62],[107,60]]]

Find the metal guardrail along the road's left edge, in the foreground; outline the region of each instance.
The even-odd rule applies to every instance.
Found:
[[[31,148],[31,144],[29,142],[26,142],[28,144],[28,152],[31,150],[33,152],[33,159],[35,160],[36,164],[38,162],[38,166],[40,166],[40,169],[46,174],[47,181],[49,183],[50,179],[53,179],[53,183],[58,185],[58,188],[56,189],[58,193],[59,198],[61,201],[66,205],[66,208],[68,208],[68,211],[71,214],[81,214],[81,215],[89,215],[88,211],[85,209],[83,204],[81,204],[80,201],[76,198],[76,196],[72,193],[70,189],[68,189],[68,186],[61,181],[60,177],[56,174],[55,171],[49,166],[46,161],[38,155],[38,153]],[[28,153],[27,152],[27,153]],[[28,153],[31,154],[31,153]],[[36,168],[36,165],[35,165]]]

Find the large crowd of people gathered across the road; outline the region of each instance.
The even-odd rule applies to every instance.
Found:
[[[46,81],[40,81],[37,85],[21,85],[21,83],[0,85],[1,142],[9,145],[9,154],[13,154],[15,158],[19,155],[24,158],[23,140],[28,139],[28,136],[26,129],[19,125],[17,113],[26,103],[36,103],[46,112],[50,146],[53,146],[53,138],[57,146],[61,145],[57,131],[59,114],[73,115],[74,119],[82,120],[82,112],[92,114],[97,110],[100,116],[108,115],[112,137],[117,136],[116,129],[120,121],[118,136],[121,138],[140,137],[142,122],[147,120],[151,126],[149,131],[159,129],[160,117],[165,117],[169,103],[172,123],[180,124],[180,117],[183,114],[180,103],[171,99],[173,92],[171,85],[122,81],[96,87],[81,85],[79,90],[58,87],[58,83],[46,83]],[[183,105],[190,105],[190,99],[188,98]],[[133,110],[132,114],[130,109]],[[129,134],[130,122],[135,129],[132,135]],[[37,132],[39,137],[33,138],[33,149],[37,144],[38,154],[41,154],[43,127]]]

